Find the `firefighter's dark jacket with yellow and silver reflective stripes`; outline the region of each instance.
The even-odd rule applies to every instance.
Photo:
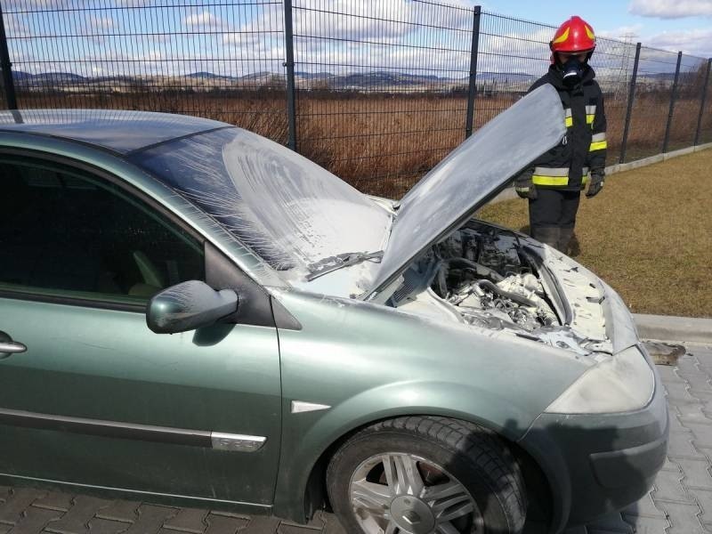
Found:
[[[561,70],[554,65],[530,87],[554,85],[562,99],[566,134],[552,150],[542,154],[526,172],[538,188],[582,190],[589,172],[603,176],[606,165],[606,117],[603,93],[594,80],[595,72],[584,68],[581,83],[563,84]]]

